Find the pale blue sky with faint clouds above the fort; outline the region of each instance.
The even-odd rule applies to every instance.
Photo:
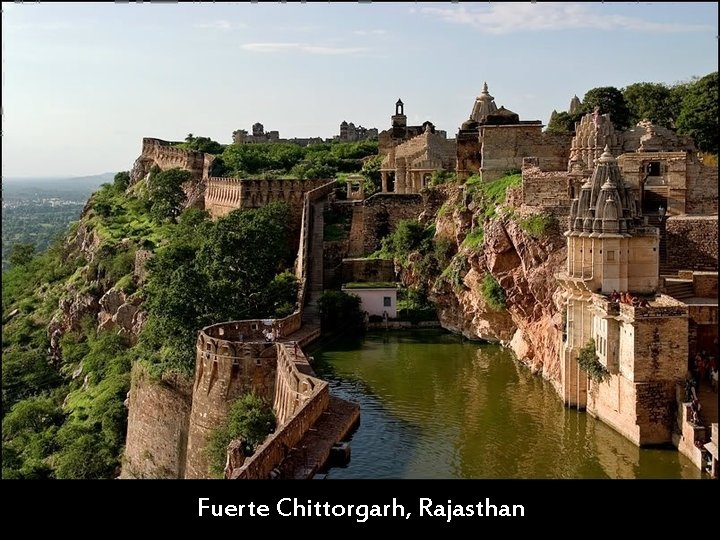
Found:
[[[129,169],[142,137],[231,142],[261,122],[449,136],[487,81],[522,120],[573,94],[716,71],[712,3],[2,4],[2,174]]]

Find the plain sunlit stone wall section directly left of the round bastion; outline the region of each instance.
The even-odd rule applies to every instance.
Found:
[[[190,380],[154,380],[133,364],[120,478],[184,477],[191,392]]]

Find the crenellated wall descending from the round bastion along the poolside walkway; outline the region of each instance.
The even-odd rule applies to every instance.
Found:
[[[330,402],[325,381],[314,377],[307,359],[295,356],[292,345],[277,344],[277,383],[274,410],[279,427],[233,471],[233,479],[265,479],[305,436]]]

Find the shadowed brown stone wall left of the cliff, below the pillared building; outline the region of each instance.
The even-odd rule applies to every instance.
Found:
[[[364,205],[364,252],[371,253],[380,248],[380,240],[394,231],[400,221],[417,219],[423,210],[423,196],[376,193],[365,199]]]

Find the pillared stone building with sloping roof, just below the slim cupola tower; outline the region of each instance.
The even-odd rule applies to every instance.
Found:
[[[383,193],[418,193],[432,173],[455,168],[455,141],[433,133],[430,124],[421,135],[393,146],[380,165]]]

